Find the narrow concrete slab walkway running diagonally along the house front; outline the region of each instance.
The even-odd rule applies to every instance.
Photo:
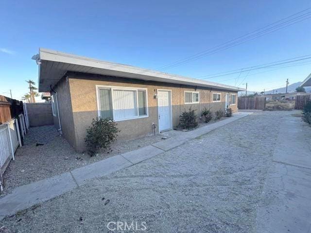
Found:
[[[17,211],[27,209],[40,202],[57,197],[73,188],[79,187],[90,179],[102,177],[126,167],[136,165],[146,159],[178,147],[187,141],[250,114],[252,113],[235,113],[232,117],[225,120],[182,133],[179,136],[157,142],[150,146],[116,155],[45,180],[19,186],[14,189],[11,194],[0,199],[0,219],[4,216],[13,215],[17,213]]]

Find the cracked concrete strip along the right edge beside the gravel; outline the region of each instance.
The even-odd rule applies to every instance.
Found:
[[[257,232],[311,233],[310,126],[284,116],[257,209]]]

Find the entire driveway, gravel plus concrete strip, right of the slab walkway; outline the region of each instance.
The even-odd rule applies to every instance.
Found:
[[[296,113],[256,112],[7,217],[0,227],[27,233],[308,233],[311,127]],[[124,231],[125,222],[131,230]]]

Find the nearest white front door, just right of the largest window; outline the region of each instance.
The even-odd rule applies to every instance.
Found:
[[[170,130],[171,127],[171,92],[157,91],[157,112],[159,132]]]

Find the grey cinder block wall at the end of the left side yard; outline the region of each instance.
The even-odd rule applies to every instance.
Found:
[[[51,103],[27,103],[26,106],[31,127],[53,124]]]

